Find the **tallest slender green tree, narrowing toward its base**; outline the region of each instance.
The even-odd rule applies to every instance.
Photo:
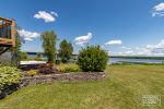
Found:
[[[43,49],[48,62],[55,62],[57,35],[50,31],[42,34]]]

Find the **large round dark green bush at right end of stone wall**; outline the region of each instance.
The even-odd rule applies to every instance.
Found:
[[[79,53],[78,64],[85,72],[101,72],[108,61],[107,53],[99,46],[87,46]]]

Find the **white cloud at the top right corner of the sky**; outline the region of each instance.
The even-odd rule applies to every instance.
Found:
[[[164,16],[164,2],[159,3],[153,8],[152,17],[154,16],[159,16],[159,17]]]

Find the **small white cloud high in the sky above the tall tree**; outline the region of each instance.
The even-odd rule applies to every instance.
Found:
[[[56,17],[58,17],[58,14],[54,11],[50,11],[49,13],[46,11],[38,11],[38,13],[34,14],[35,19],[42,19],[46,23],[48,22],[55,22]]]

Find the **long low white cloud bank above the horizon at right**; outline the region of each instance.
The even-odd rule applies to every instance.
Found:
[[[164,39],[156,45],[147,45],[145,47],[128,48],[122,47],[121,51],[110,51],[110,56],[164,56]]]

